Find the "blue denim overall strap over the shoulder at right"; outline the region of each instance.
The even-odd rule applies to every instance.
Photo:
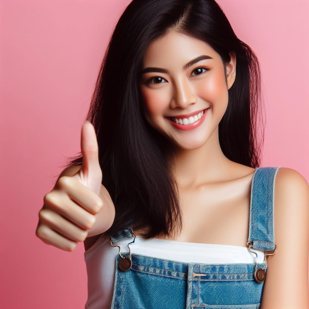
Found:
[[[252,179],[248,242],[252,248],[272,251],[274,244],[274,180],[279,167],[260,167]]]

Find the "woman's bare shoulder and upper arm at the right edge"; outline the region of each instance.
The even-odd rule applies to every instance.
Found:
[[[297,171],[279,168],[274,186],[274,238],[262,309],[309,309],[309,186]]]

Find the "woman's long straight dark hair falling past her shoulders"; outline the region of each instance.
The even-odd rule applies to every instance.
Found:
[[[139,92],[145,50],[170,30],[207,42],[224,63],[236,55],[236,79],[219,124],[220,145],[232,161],[259,165],[259,64],[219,5],[214,0],[133,0],[116,25],[87,117],[97,132],[102,183],[116,207],[108,234],[131,227],[154,237],[181,229],[168,142],[145,120]],[[81,162],[79,157],[72,164]]]

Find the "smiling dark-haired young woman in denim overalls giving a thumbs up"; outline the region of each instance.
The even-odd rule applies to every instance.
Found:
[[[215,1],[130,3],[39,213],[44,242],[84,241],[86,308],[309,308],[308,184],[258,168],[259,91]]]

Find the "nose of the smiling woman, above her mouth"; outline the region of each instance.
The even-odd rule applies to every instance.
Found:
[[[182,78],[174,82],[173,97],[170,103],[171,108],[185,109],[197,102],[197,95],[188,78]]]

